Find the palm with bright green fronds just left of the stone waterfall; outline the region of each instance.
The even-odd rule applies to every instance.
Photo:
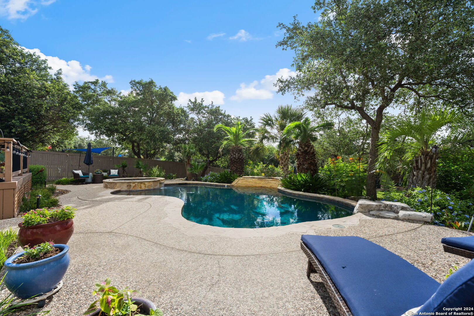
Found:
[[[254,140],[252,138],[246,138],[246,135],[255,130],[255,128],[250,128],[244,131],[243,127],[244,126],[242,126],[240,122],[236,122],[235,126],[225,126],[223,124],[217,124],[214,126],[214,131],[221,129],[227,134],[227,136],[222,141],[220,150],[225,147],[230,148],[230,171],[238,174],[239,176],[244,174],[245,157],[243,148],[248,146]]]

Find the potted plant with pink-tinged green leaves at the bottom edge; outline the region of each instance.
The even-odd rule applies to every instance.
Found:
[[[156,308],[155,304],[145,298],[134,298],[132,294],[138,293],[133,289],[117,289],[110,286],[111,280],[95,284],[92,295],[97,299],[84,312],[87,316],[163,316],[163,311]]]

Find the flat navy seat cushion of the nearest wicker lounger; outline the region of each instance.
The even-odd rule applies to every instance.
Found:
[[[354,316],[400,316],[439,283],[387,249],[356,236],[302,235]]]

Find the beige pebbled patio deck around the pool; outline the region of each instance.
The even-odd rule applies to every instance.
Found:
[[[468,262],[444,253],[441,238],[472,235],[363,214],[339,219],[346,228],[312,222],[304,232],[301,227],[283,232],[270,227],[216,235],[209,233],[209,226],[188,222],[191,233],[186,233],[181,223],[170,221],[170,210],[177,212],[180,199],[110,195],[102,184],[58,188],[71,190],[59,197],[60,204],[78,211],[64,287],[44,308],[51,316],[82,315],[94,299],[93,284],[107,277],[117,287],[141,291],[165,316],[338,315],[317,274],[306,277],[302,233],[364,237],[438,281],[452,265]],[[0,227],[19,221],[1,220]],[[13,315],[27,314],[23,310]]]

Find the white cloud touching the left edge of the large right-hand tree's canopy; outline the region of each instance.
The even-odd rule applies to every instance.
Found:
[[[272,99],[273,91],[278,90],[274,83],[279,78],[287,79],[289,77],[295,76],[296,72],[291,71],[288,68],[282,68],[278,72],[272,75],[266,75],[264,79],[254,81],[248,86],[245,83],[240,84],[240,88],[236,90],[236,94],[230,97],[233,101],[242,101],[248,99]]]

